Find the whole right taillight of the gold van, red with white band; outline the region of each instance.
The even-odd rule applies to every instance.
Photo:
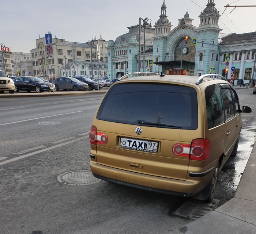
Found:
[[[193,139],[191,145],[177,143],[172,147],[176,156],[189,157],[191,160],[206,160],[210,158],[210,141],[208,139]]]

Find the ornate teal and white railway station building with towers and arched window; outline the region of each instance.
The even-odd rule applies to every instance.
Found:
[[[173,27],[163,1],[161,15],[154,25],[145,18],[141,27],[139,24],[128,27],[126,34],[115,41],[109,40],[108,78],[139,71],[166,74],[172,68],[186,69],[191,76],[208,73],[221,74],[227,79],[232,76],[235,83],[241,79],[249,82],[253,74],[255,78],[255,32],[222,33],[221,14],[214,0],[206,1],[206,8],[199,12],[198,27],[193,26],[188,12]]]

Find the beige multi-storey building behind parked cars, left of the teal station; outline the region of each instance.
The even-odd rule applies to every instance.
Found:
[[[49,41],[47,41],[49,42]],[[98,78],[99,74],[104,77],[106,73],[106,54],[108,41],[93,39],[87,43],[69,42],[52,38],[52,53],[49,55],[49,47],[46,48],[45,37],[36,39],[36,48],[31,50],[33,61],[33,76],[55,78],[59,76],[88,76]],[[98,50],[97,50],[98,48]],[[98,59],[98,51],[100,59]],[[74,67],[74,62],[83,62],[83,65]],[[91,69],[93,66],[93,69]],[[91,74],[93,71],[93,75]],[[105,71],[105,72],[103,72]]]

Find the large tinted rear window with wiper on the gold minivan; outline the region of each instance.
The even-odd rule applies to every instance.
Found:
[[[151,127],[196,129],[196,90],[159,83],[120,83],[104,97],[97,119]]]

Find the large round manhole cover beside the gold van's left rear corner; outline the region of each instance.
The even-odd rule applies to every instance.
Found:
[[[86,185],[100,181],[93,176],[93,173],[91,173],[90,170],[71,170],[69,172],[64,172],[57,176],[57,180],[60,183],[68,185]]]

